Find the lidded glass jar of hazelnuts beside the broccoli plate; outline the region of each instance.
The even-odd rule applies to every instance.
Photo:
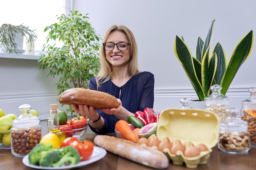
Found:
[[[12,121],[11,128],[11,153],[16,157],[24,157],[39,144],[42,137],[40,118],[31,115],[31,106],[19,106],[20,116]]]

